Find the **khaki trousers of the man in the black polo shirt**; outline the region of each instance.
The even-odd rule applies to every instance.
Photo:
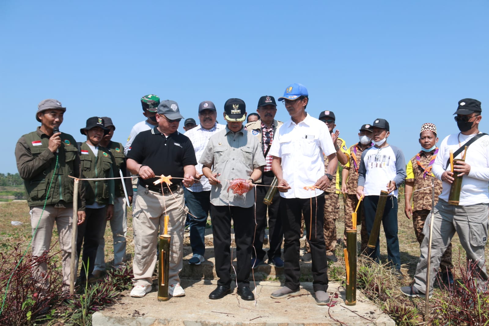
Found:
[[[134,259],[133,284],[152,285],[152,275],[156,266],[156,244],[158,234],[163,234],[165,207],[169,215],[168,234],[171,235],[171,255],[169,284],[180,281],[178,273],[183,266],[183,228],[185,225],[185,211],[183,210],[183,189],[160,194],[137,187],[135,210],[133,213],[134,229]],[[159,229],[159,231],[158,231]]]

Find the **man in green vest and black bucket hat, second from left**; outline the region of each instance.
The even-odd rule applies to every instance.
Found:
[[[82,250],[82,268],[80,271],[80,284],[87,279],[89,283],[95,282],[93,268],[97,254],[100,233],[105,231],[105,223],[110,220],[114,211],[114,180],[113,161],[111,151],[99,143],[109,133],[105,127],[104,119],[92,116],[87,119],[87,126],[80,129],[82,135],[87,135],[87,141],[80,146],[80,164],[86,189],[85,201],[87,204],[86,222],[78,228],[76,251],[78,256]]]

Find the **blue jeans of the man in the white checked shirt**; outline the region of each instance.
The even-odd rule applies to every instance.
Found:
[[[211,191],[194,192],[183,188],[185,200],[190,214],[190,246],[192,253],[204,256],[204,233],[207,215],[210,209]]]

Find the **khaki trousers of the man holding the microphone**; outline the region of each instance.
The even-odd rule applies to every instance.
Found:
[[[55,208],[54,205],[46,205],[43,212],[42,206],[35,206],[30,211],[30,215],[33,236],[32,256],[35,257],[42,256],[44,251],[48,251],[51,247],[51,237],[53,235],[54,222],[56,222],[60,249],[62,251],[61,267],[63,271],[63,291],[69,291],[69,277],[71,273],[71,220],[73,209]],[[39,219],[41,219],[41,221],[39,221]],[[36,227],[37,231],[34,233]],[[33,276],[39,279],[40,286],[42,286],[44,280],[48,281],[46,263],[39,264],[36,270],[32,272]]]

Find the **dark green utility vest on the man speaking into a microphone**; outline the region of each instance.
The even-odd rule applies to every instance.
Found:
[[[49,137],[39,137],[36,131],[24,135],[29,150],[34,157],[38,157],[47,149],[49,145]],[[76,140],[68,134],[61,133],[61,146],[58,149],[58,164],[56,158],[49,160],[44,164],[44,170],[32,179],[24,180],[25,190],[27,191],[27,203],[29,207],[46,205],[56,205],[60,201],[65,203],[73,202],[73,182],[74,179],[68,176],[74,176],[75,158],[77,148],[75,147]],[[41,144],[39,144],[41,141]],[[49,189],[49,195],[46,193],[51,183],[51,178],[54,179]]]

